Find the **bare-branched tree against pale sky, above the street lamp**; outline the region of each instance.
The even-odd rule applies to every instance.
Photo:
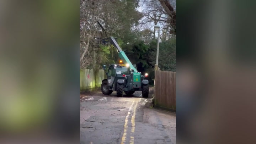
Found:
[[[141,28],[152,29],[153,25],[160,25],[161,40],[176,35],[176,0],[141,0],[140,6],[144,16],[140,21]],[[155,29],[151,33],[155,39]]]

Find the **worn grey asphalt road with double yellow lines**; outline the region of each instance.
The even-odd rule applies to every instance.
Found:
[[[80,101],[81,144],[176,144],[176,114],[145,108],[141,92],[84,95]]]

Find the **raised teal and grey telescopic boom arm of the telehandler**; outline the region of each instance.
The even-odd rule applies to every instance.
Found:
[[[113,37],[110,37],[110,41],[112,45],[117,49],[118,55],[121,60],[129,64],[129,67],[134,70],[134,72],[137,72],[136,68],[132,65],[124,51],[120,48],[120,46],[117,44],[116,40]]]

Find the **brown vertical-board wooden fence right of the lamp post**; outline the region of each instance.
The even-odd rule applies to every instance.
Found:
[[[154,105],[176,110],[176,72],[156,71]]]

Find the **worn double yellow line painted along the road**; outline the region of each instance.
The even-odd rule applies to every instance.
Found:
[[[133,135],[134,135],[134,132],[135,132],[135,115],[136,115],[137,106],[138,106],[138,101],[133,100],[133,103],[130,106],[129,111],[128,111],[127,116],[126,116],[126,119],[125,119],[124,133],[123,133],[123,136],[122,136],[121,144],[126,143],[127,130],[128,130],[128,118],[131,115],[132,107],[133,107],[133,115],[132,115],[132,119],[131,119],[132,128],[131,128],[131,132],[130,132],[130,144],[134,144],[134,136]]]

